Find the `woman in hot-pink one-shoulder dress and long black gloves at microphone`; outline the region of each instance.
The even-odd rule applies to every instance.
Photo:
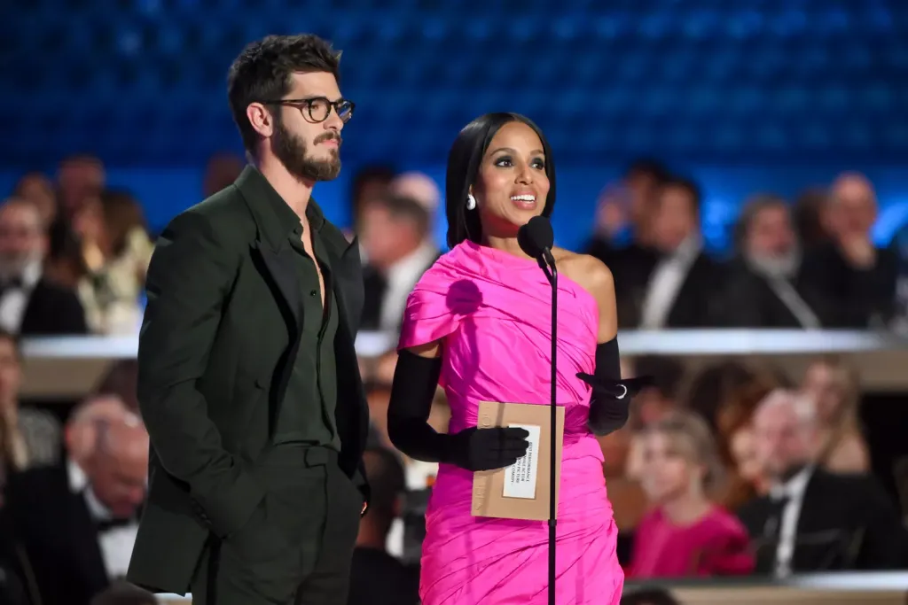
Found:
[[[544,605],[548,523],[475,517],[473,472],[526,452],[523,429],[477,428],[480,401],[548,405],[551,288],[517,242],[518,228],[555,202],[548,142],[528,119],[492,113],[451,148],[448,243],[407,302],[388,429],[418,460],[439,462],[426,514],[423,605]],[[617,528],[593,432],[627,420],[615,291],[596,259],[554,249],[558,266],[558,405],[566,408],[558,502],[558,605],[613,605],[624,574]],[[426,420],[437,385],[448,395],[448,434]],[[593,385],[593,386],[591,386]],[[633,390],[633,389],[632,389]]]

